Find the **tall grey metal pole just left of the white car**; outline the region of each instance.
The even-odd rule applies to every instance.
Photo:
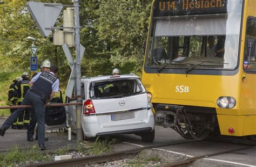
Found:
[[[74,1],[74,15],[75,15],[75,47],[76,47],[76,91],[77,103],[82,103],[81,95],[81,60],[80,60],[80,24],[79,24],[79,0]],[[77,128],[77,141],[83,140],[83,130],[81,128],[81,112],[82,106],[76,106],[76,128]]]

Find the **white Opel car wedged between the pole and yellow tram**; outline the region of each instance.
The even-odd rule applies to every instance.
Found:
[[[84,138],[136,134],[144,142],[154,140],[154,113],[139,77],[130,75],[81,78]],[[67,99],[68,100],[68,99]],[[68,100],[67,103],[76,103]],[[69,126],[76,133],[75,106],[66,106]]]

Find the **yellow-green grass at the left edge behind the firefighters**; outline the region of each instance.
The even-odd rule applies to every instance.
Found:
[[[8,90],[13,83],[14,78],[21,76],[22,72],[2,72],[0,73],[0,106],[6,106],[5,102],[8,99]],[[0,117],[10,114],[9,109],[0,110]]]

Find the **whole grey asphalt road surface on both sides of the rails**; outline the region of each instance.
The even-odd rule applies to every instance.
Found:
[[[0,125],[4,119],[0,118]],[[67,133],[46,133],[49,137],[47,141],[47,150],[56,150],[65,147],[69,144],[70,149],[77,148],[76,136],[72,135],[72,140],[68,141]],[[156,137],[153,143],[144,143],[140,136],[133,134],[123,134],[112,136],[116,139],[113,146],[113,151],[133,149],[144,146],[159,146],[161,144],[172,144],[177,142],[188,141],[183,139],[178,133],[170,128],[156,127]],[[89,141],[90,142],[90,141]],[[34,146],[37,141],[26,141],[26,130],[8,129],[4,137],[0,136],[0,154],[10,150],[16,146],[20,148],[27,148]],[[158,148],[159,154],[170,154],[170,157],[177,156],[200,156],[210,153],[217,153],[219,151],[231,150],[235,148],[245,147],[241,144],[213,142],[213,141],[198,141],[193,143],[178,144],[173,146],[166,146]],[[191,166],[256,166],[256,147],[250,149],[235,151],[234,153],[227,153],[218,156],[208,157],[208,159],[200,159],[194,162]]]

